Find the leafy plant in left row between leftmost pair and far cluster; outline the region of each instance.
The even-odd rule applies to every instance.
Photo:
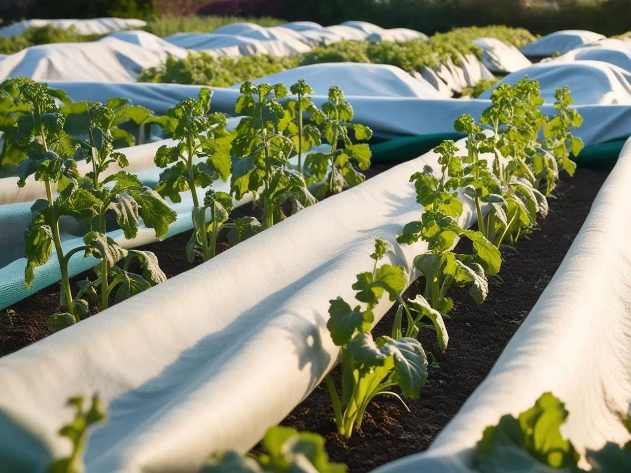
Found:
[[[194,232],[186,247],[192,262],[197,248],[204,261],[215,256],[220,227],[232,209],[232,198],[225,192],[209,190],[201,205],[197,188],[209,187],[218,179],[230,177],[230,134],[227,119],[222,114],[210,114],[211,91],[203,88],[199,98],[186,98],[167,110],[167,116],[177,120],[173,138],[175,146],[162,145],[155,156],[156,166],[167,168],[160,174],[156,190],[172,202],[181,202],[180,192],[191,191]],[[206,219],[207,211],[211,221]],[[210,234],[210,235],[209,235]]]

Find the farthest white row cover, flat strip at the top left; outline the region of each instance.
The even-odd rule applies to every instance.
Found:
[[[75,28],[82,35],[107,35],[107,33],[144,28],[146,21],[133,18],[94,18],[92,20],[22,20],[9,26],[0,28],[0,36],[11,38],[21,35],[28,28],[52,25],[56,28],[68,30]]]

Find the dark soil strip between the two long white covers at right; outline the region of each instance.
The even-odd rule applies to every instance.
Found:
[[[556,198],[550,199],[550,216],[541,219],[533,233],[522,236],[514,250],[502,251],[502,269],[499,276],[490,277],[489,295],[483,304],[476,305],[467,289],[452,290],[452,318],[445,321],[447,351],[440,353],[435,332],[420,333],[425,351],[432,353],[428,360],[434,363],[420,399],[406,400],[411,412],[393,397],[377,397],[367,409],[362,431],[346,439],[336,430],[331,399],[322,383],[282,424],[324,435],[331,460],[348,465],[350,473],[367,472],[427,449],[488,375],[546,288],[607,175],[606,170],[579,168],[574,178],[562,178]],[[423,288],[416,281],[408,293],[414,298]],[[377,324],[375,338],[390,335],[395,312],[396,306]],[[339,386],[338,368],[333,375]]]

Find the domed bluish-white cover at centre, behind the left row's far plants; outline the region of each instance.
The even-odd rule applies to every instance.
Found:
[[[311,64],[255,79],[252,82],[292,85],[298,79],[305,79],[313,88],[315,95],[326,96],[331,86],[338,85],[345,93],[351,93],[353,96],[442,98],[439,91],[425,79],[413,78],[403,69],[386,64],[352,62]],[[239,89],[240,84],[230,88]]]

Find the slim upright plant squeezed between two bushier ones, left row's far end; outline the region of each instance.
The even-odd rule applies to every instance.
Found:
[[[283,107],[289,112],[292,120],[286,127],[285,134],[293,141],[293,146],[298,155],[298,172],[302,173],[303,153],[307,153],[312,146],[320,146],[321,144],[319,129],[313,125],[304,124],[304,114],[316,113],[317,107],[311,101],[311,95],[314,91],[305,82],[305,79],[299,79],[289,90],[296,98],[290,98],[283,103]]]

